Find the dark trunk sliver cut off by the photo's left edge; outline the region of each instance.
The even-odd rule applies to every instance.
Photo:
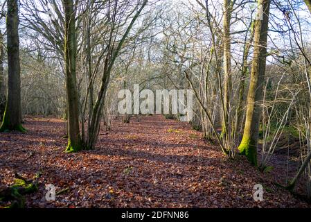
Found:
[[[4,42],[3,42],[3,34],[0,31],[0,120],[1,121],[3,118],[4,110],[6,109],[6,91],[4,84],[3,61],[4,61]]]

